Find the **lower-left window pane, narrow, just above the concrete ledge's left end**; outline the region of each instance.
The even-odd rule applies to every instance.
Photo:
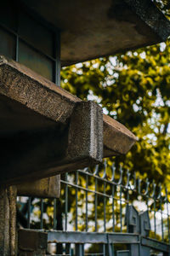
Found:
[[[0,28],[0,54],[14,59],[15,56],[15,37]]]

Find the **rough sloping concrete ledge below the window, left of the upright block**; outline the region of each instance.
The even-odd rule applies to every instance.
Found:
[[[20,102],[25,107],[19,106],[20,112],[27,108],[60,124],[65,124],[75,103],[81,101],[31,69],[3,56],[0,57],[0,94]]]

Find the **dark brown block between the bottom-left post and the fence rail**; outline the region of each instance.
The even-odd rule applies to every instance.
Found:
[[[48,247],[48,233],[36,230],[19,230],[19,256],[45,256]]]

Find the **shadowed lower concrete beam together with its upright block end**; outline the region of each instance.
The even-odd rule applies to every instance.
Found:
[[[103,155],[102,126],[101,108],[94,102],[79,102],[62,132],[54,126],[2,138],[7,149],[0,155],[1,182],[20,183],[98,163]]]

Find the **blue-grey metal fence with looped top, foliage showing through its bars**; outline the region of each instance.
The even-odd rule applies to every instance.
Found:
[[[18,204],[23,227],[48,230],[47,254],[169,253],[167,189],[114,164],[65,173],[59,199],[22,197]]]

